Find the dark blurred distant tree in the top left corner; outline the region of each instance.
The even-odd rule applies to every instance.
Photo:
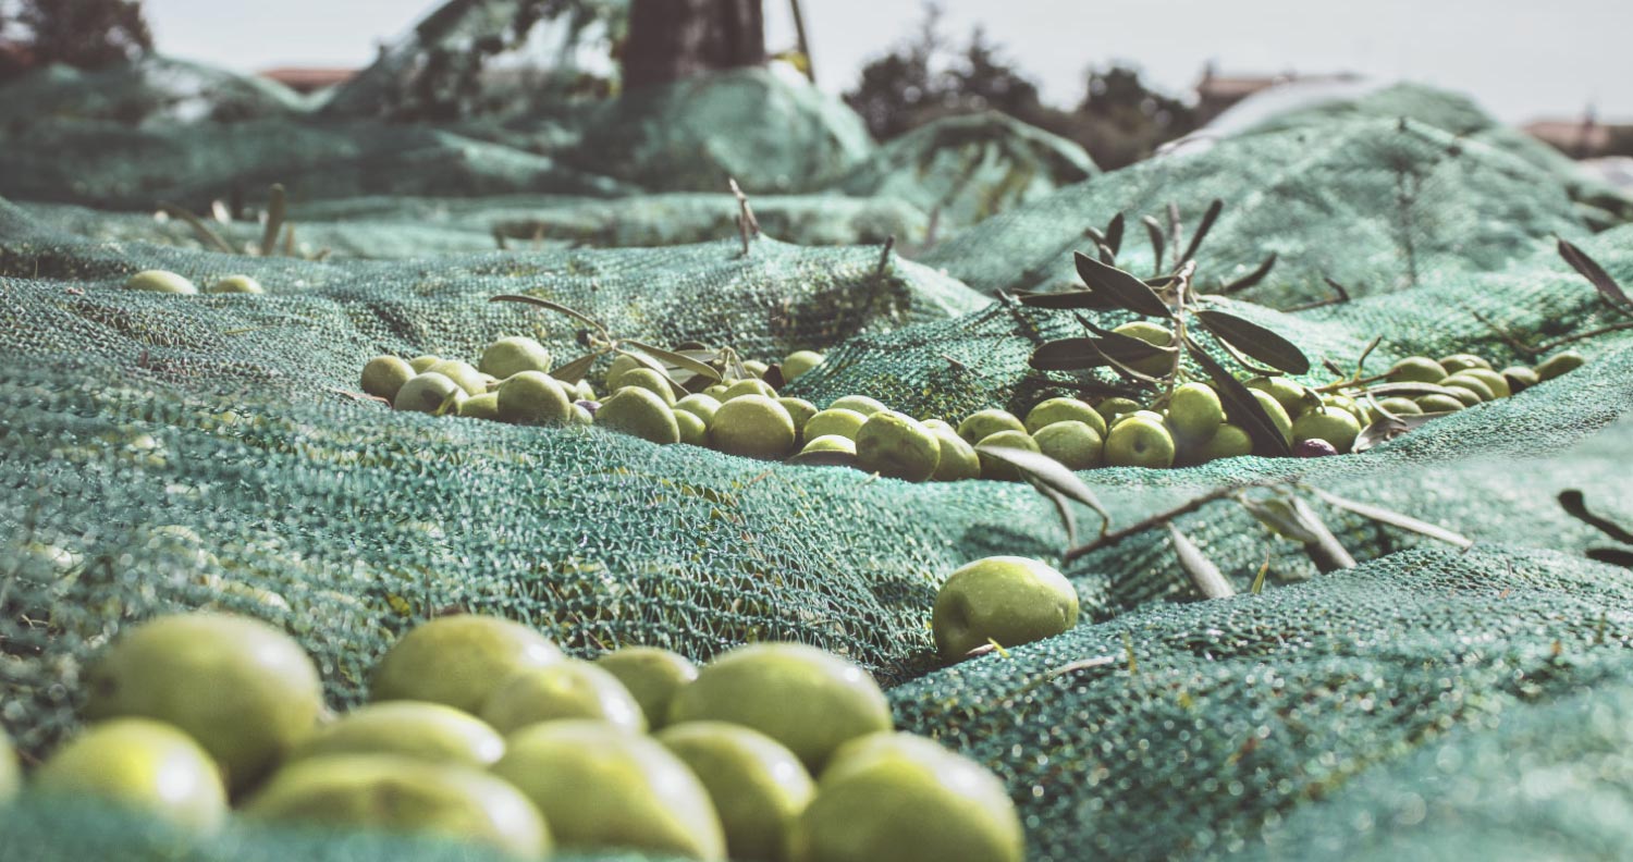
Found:
[[[0,0],[0,78],[49,64],[98,69],[152,49],[139,0]]]

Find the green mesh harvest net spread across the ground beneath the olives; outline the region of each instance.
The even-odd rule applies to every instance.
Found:
[[[1553,237],[1633,284],[1633,227],[1595,233],[1571,178],[1432,119],[1315,114],[1176,152],[1022,202],[918,263],[769,235],[746,250],[725,235],[263,258],[98,224],[64,206],[95,202],[72,194],[18,194],[33,201],[0,202],[0,723],[26,758],[49,751],[77,728],[85,663],[163,612],[219,607],[286,629],[340,709],[361,702],[398,633],[474,611],[580,656],[639,643],[705,661],[764,640],[849,656],[887,686],[903,728],[1006,782],[1035,862],[1617,855],[1633,839],[1633,575],[1587,557],[1607,539],[1558,493],[1579,488],[1633,522],[1633,331],[1613,328],[1625,317]],[[508,194],[526,191],[545,189]],[[382,353],[475,359],[529,335],[573,356],[578,323],[488,302],[529,294],[648,343],[768,361],[825,349],[784,390],[816,405],[862,393],[952,421],[1024,411],[1081,382],[1027,366],[1039,343],[1081,328],[993,294],[1070,282],[1084,229],[1117,212],[1132,219],[1120,260],[1143,271],[1137,217],[1174,201],[1194,225],[1213,198],[1225,209],[1200,247],[1204,284],[1277,253],[1264,282],[1218,302],[1318,362],[1352,369],[1375,338],[1372,371],[1419,353],[1533,362],[1527,344],[1610,331],[1573,344],[1587,356],[1577,371],[1364,454],[1079,473],[1112,529],[1212,496],[1172,526],[1238,593],[1213,601],[1199,601],[1161,524],[1068,558],[1060,513],[1024,483],[913,485],[599,428],[394,413],[354,392]],[[266,294],[121,287],[150,268],[199,284],[243,273]],[[1323,276],[1350,299],[1272,309],[1324,299]],[[1318,571],[1221,490],[1297,495],[1359,565]],[[1092,542],[1099,518],[1071,514]],[[996,553],[1060,565],[1084,619],[942,666],[936,588]],[[480,852],[250,824],[193,841],[42,800],[0,811],[0,859],[113,855]]]

